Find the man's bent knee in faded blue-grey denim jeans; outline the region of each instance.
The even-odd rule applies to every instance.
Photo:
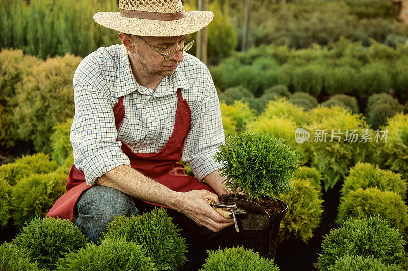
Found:
[[[77,201],[78,218],[75,225],[92,242],[96,243],[106,224],[116,216],[137,214],[138,209],[132,197],[114,188],[95,185],[80,196]]]

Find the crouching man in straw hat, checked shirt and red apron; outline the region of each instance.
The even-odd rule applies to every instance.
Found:
[[[192,249],[233,224],[209,205],[231,193],[213,159],[224,143],[217,93],[207,67],[183,53],[213,14],[185,12],[181,0],[130,2],[94,15],[122,44],[99,48],[75,72],[75,164],[47,216],[71,219],[97,242],[115,216],[162,205]]]

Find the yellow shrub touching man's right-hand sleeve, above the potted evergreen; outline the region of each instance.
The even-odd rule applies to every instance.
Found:
[[[220,102],[220,108],[223,117],[231,117],[233,119],[238,132],[244,131],[246,124],[255,116],[255,113],[246,102],[234,101],[232,105]]]

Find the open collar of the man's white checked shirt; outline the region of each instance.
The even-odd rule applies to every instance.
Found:
[[[187,89],[189,84],[180,66],[179,64],[173,74],[165,76],[157,86],[156,91],[153,92],[152,89],[141,86],[136,82],[129,63],[129,57],[127,56],[127,50],[122,44],[118,68],[116,70],[116,98],[134,91],[144,95],[153,94],[155,97],[163,97],[175,93],[179,87]]]

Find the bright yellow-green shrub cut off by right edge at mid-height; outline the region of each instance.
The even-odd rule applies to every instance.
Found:
[[[402,174],[408,179],[408,115],[401,113],[390,118],[388,125],[382,130],[388,130],[387,141],[380,142],[377,160],[378,164]]]

